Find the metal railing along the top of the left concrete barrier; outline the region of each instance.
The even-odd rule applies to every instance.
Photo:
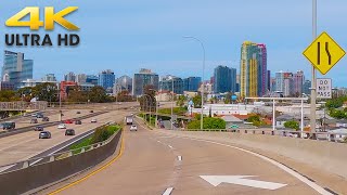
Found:
[[[103,126],[100,127],[105,127],[105,126],[110,126],[113,125],[115,122],[106,122]],[[100,128],[98,127],[98,128]],[[97,128],[94,128],[93,130],[95,130]],[[33,167],[33,166],[39,166],[42,164],[49,164],[55,160],[60,160],[60,159],[64,159],[64,158],[68,158],[72,156],[76,156],[82,153],[87,153],[89,151],[93,151],[95,148],[102,147],[106,144],[108,144],[118,133],[119,131],[121,131],[121,129],[119,129],[117,132],[115,132],[112,136],[110,136],[107,140],[103,141],[103,142],[98,142],[88,146],[83,146],[83,147],[79,147],[76,150],[69,150],[66,152],[62,152],[62,153],[56,153],[56,154],[51,154],[51,155],[47,155],[47,156],[40,156],[40,157],[36,157],[36,158],[29,158],[26,160],[22,160],[22,161],[17,161],[14,164],[9,164],[9,165],[3,165],[0,166],[0,171],[2,170],[2,172],[0,172],[0,174],[4,174],[11,171],[15,171],[18,169],[26,169],[28,167]],[[66,145],[69,146],[69,145]]]

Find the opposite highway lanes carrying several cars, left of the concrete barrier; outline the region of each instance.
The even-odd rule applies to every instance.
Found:
[[[87,112],[85,112],[87,113]],[[89,114],[89,113],[88,113]],[[82,125],[67,123],[67,128],[75,129],[76,135],[85,133],[95,127],[102,126],[108,121],[121,121],[124,116],[128,113],[124,110],[114,110],[105,113],[92,118],[97,118],[97,123],[91,123],[92,118],[87,118],[81,120]],[[65,115],[67,117],[79,117],[76,115],[76,110],[70,110]],[[55,145],[59,145],[67,140],[73,139],[73,136],[65,136],[65,129],[57,129],[56,126],[44,128],[51,132],[51,139],[38,139],[38,131],[28,131],[11,136],[5,136],[0,139],[0,166],[14,164],[16,161],[26,160],[36,156]],[[3,171],[0,168],[0,172]]]

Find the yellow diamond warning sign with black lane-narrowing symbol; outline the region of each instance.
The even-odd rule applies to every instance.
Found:
[[[325,75],[346,52],[324,31],[303,54],[322,75]]]

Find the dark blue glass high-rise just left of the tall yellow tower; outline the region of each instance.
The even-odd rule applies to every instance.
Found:
[[[235,92],[236,91],[236,69],[227,66],[217,66],[214,73],[215,93]]]

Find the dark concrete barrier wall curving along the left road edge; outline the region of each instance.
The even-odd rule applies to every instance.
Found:
[[[23,194],[93,167],[115,153],[120,136],[121,131],[118,131],[108,144],[98,148],[0,174],[1,194]]]

